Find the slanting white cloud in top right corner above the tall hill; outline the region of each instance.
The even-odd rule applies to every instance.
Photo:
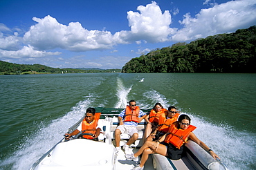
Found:
[[[206,1],[205,1],[206,2]],[[189,13],[180,23],[183,28],[172,35],[172,41],[191,41],[256,24],[256,1],[228,1],[202,9],[194,18]]]

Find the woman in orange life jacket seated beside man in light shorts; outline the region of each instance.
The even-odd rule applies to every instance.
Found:
[[[147,126],[144,133],[144,141],[145,139],[155,131],[158,127],[159,117],[165,116],[167,110],[163,108],[161,103],[156,103],[153,109],[150,111],[149,115],[145,117],[145,121],[147,122]]]

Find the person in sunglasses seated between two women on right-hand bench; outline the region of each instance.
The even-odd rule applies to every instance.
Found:
[[[178,111],[176,111],[176,107],[170,106],[167,110],[167,115],[161,115],[159,117],[158,128],[151,133],[146,140],[155,141],[162,135],[165,135],[172,123],[178,120],[179,115]]]

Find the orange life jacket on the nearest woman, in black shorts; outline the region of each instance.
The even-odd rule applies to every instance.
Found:
[[[181,146],[187,142],[188,135],[190,135],[190,132],[194,131],[194,129],[196,129],[196,126],[193,125],[188,126],[188,129],[177,129],[175,124],[172,124],[165,137],[165,143],[171,143],[180,149]]]

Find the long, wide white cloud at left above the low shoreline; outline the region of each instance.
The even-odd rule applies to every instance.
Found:
[[[43,19],[33,17],[33,20],[37,24],[25,33],[24,41],[38,50],[63,48],[86,51],[107,49],[115,45],[109,31],[86,30],[79,22],[65,26],[49,15]]]

